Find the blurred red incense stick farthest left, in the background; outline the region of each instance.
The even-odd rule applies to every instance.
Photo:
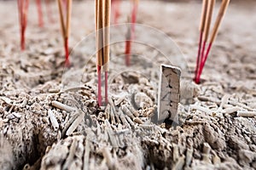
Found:
[[[25,50],[25,31],[27,24],[27,12],[29,0],[18,0],[19,21],[20,21],[20,49]]]

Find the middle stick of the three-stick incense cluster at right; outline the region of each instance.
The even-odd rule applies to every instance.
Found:
[[[215,0],[209,0],[209,2],[207,3],[207,16],[206,16],[206,21],[205,21],[205,26],[204,26],[204,31],[203,31],[203,46],[202,46],[202,50],[201,50],[201,57],[199,59],[199,63],[200,63],[199,70],[201,70],[202,59],[205,54],[205,48],[207,45],[208,35],[209,35],[209,31],[210,31],[210,26],[211,26],[211,21],[212,21],[212,12],[213,12],[214,5],[215,5]],[[199,73],[199,71],[197,71],[197,74],[196,74],[196,78],[195,78],[196,83],[200,82],[198,73]]]

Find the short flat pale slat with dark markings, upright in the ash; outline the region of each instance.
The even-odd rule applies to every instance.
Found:
[[[160,65],[158,91],[158,122],[177,122],[181,70],[172,65]]]

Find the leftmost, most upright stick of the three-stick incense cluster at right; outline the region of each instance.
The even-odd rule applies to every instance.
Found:
[[[202,42],[202,36],[203,36],[205,23],[206,23],[206,17],[207,17],[207,5],[208,5],[208,0],[203,0],[202,9],[201,9],[201,23],[200,23],[200,27],[199,27],[200,37],[199,37],[199,42],[198,42],[198,53],[197,53],[197,58],[196,58],[194,80],[196,79],[196,75],[197,75],[197,72],[199,70],[199,65],[200,65],[201,42]]]

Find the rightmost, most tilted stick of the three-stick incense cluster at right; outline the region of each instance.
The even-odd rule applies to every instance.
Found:
[[[204,56],[204,58],[202,59],[202,62],[201,62],[201,68],[200,68],[200,71],[199,71],[199,74],[198,74],[198,80],[199,81],[200,81],[201,72],[203,70],[203,67],[206,64],[208,54],[210,53],[210,50],[212,48],[212,43],[215,41],[215,39],[217,37],[218,28],[220,26],[220,23],[221,23],[223,17],[224,17],[224,14],[226,13],[226,10],[227,10],[229,4],[230,4],[230,0],[223,0],[222,3],[221,3],[220,8],[218,10],[218,16],[217,16],[217,19],[216,19],[215,24],[213,26],[213,29],[212,29],[212,35],[211,35],[210,42],[209,42],[209,45],[208,45],[208,48],[207,48],[207,54]]]

